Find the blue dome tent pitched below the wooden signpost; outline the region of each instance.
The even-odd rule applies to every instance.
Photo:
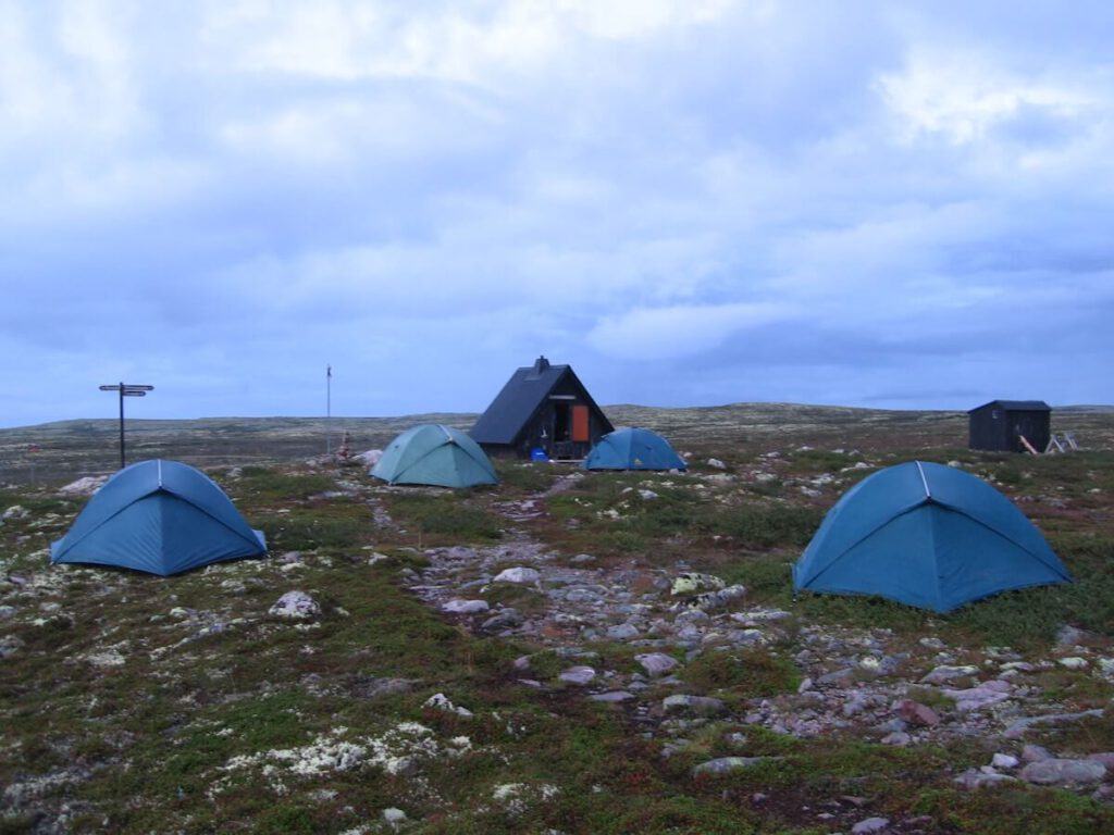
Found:
[[[50,547],[51,562],[118,566],[176,574],[266,553],[232,500],[177,461],[140,461],[113,475]]]

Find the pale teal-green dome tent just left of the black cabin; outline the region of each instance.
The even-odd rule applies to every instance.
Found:
[[[395,438],[371,474],[390,484],[466,488],[499,483],[479,444],[440,423],[423,423]]]

